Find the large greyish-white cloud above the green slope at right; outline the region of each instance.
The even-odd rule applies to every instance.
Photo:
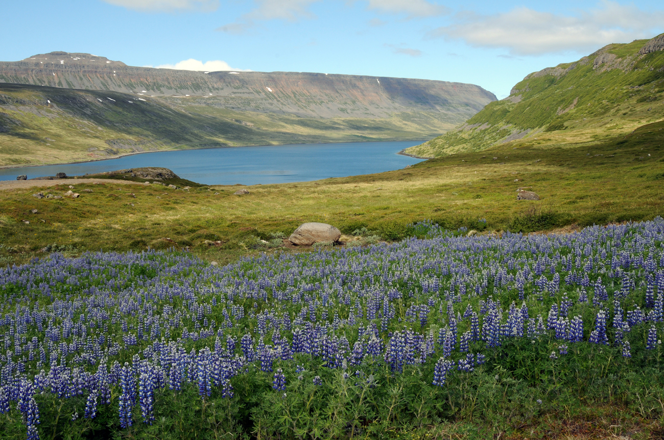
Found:
[[[430,36],[460,38],[475,47],[507,48],[512,54],[588,52],[615,42],[651,38],[664,26],[662,11],[603,1],[578,16],[554,15],[519,7],[497,15],[468,14],[461,23],[441,27]]]

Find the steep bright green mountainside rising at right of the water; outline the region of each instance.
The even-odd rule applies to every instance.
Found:
[[[664,34],[609,44],[580,60],[526,76],[509,97],[408,154],[438,157],[505,142],[599,142],[664,117]]]

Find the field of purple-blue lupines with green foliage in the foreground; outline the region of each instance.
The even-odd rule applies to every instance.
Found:
[[[664,417],[664,220],[244,258],[51,254],[0,270],[4,439],[515,431]]]

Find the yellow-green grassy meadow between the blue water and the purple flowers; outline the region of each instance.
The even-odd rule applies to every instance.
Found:
[[[408,225],[423,219],[450,229],[523,232],[651,219],[664,211],[663,145],[664,123],[653,123],[576,148],[501,144],[404,170],[317,182],[189,192],[77,184],[78,199],[37,199],[38,188],[6,190],[0,192],[0,262],[25,262],[56,243],[74,253],[189,247],[224,263],[283,249],[253,244],[272,240],[273,233],[289,235],[307,221],[330,223],[345,234],[365,227],[396,240],[414,235]],[[42,191],[62,194],[71,182]],[[541,200],[517,201],[519,187],[533,187]],[[238,188],[250,193],[233,195]]]

